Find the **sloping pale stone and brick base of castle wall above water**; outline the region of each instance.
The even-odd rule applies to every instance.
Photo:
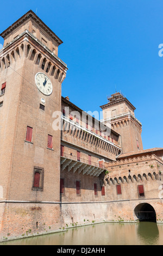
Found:
[[[151,204],[163,223],[162,199],[84,203],[1,203],[0,241],[64,231],[99,222],[135,222],[134,209]]]

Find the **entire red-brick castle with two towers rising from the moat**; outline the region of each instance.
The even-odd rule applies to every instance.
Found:
[[[163,148],[143,150],[135,107],[114,93],[99,121],[62,97],[62,41],[32,10],[1,36],[1,241],[92,222],[161,223]]]

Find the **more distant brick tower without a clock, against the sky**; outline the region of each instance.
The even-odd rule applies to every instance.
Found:
[[[103,122],[111,123],[111,127],[121,135],[123,153],[143,149],[142,125],[135,118],[135,107],[121,93],[108,97],[108,103],[101,106]]]

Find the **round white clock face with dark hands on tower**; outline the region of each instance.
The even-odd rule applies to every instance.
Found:
[[[45,95],[51,95],[53,91],[53,86],[51,80],[49,80],[48,76],[39,72],[35,75],[35,83],[37,88],[41,93]]]

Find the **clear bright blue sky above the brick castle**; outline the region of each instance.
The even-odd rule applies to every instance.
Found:
[[[1,32],[30,9],[64,41],[62,96],[84,111],[101,111],[107,96],[121,91],[136,107],[143,148],[163,147],[163,1],[3,1]]]

